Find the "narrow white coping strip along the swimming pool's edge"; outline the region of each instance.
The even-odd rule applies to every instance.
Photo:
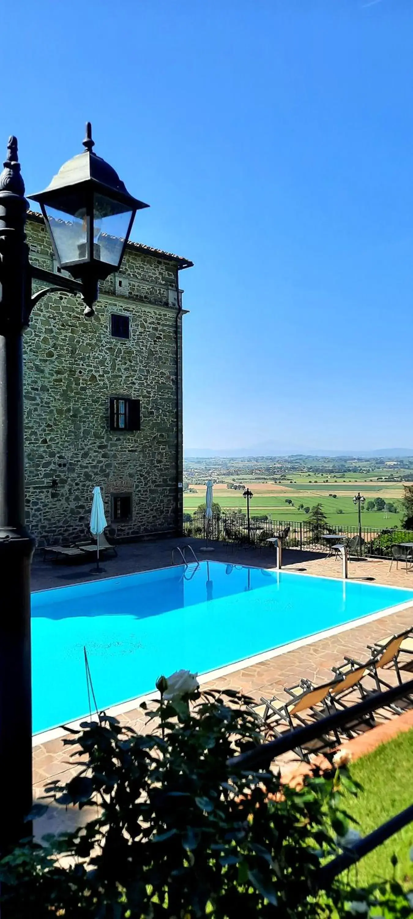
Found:
[[[225,562],[222,562],[225,564]],[[178,567],[177,565],[175,567]],[[258,567],[256,565],[245,565],[246,568]],[[159,571],[159,569],[152,569],[153,571]],[[277,572],[277,569],[266,569],[267,571]],[[137,572],[139,573],[139,572]],[[282,573],[282,569],[279,573]],[[302,574],[307,577],[319,577],[318,574],[306,574],[304,572],[285,572],[290,574]],[[128,575],[121,575],[128,576]],[[325,580],[329,581],[343,581],[342,578],[326,578]],[[89,582],[90,583],[90,582]],[[343,582],[346,583],[345,581]],[[362,582],[363,583],[363,582]],[[389,584],[370,584],[370,586],[389,586],[392,590],[408,590],[407,587],[391,587]],[[221,667],[216,667],[213,670],[207,670],[203,674],[197,675],[198,683],[200,686],[203,686],[205,683],[210,683],[211,680],[219,679],[221,676],[227,676],[232,673],[236,673],[238,670],[243,670],[244,668],[251,667],[254,664],[261,664],[263,661],[272,660],[274,657],[280,657],[282,654],[286,654],[291,651],[296,651],[299,648],[305,648],[308,644],[315,644],[317,641],[323,641],[325,638],[332,638],[334,635],[340,635],[341,632],[350,631],[352,629],[357,629],[359,626],[364,625],[368,622],[374,622],[376,619],[385,618],[385,616],[393,616],[395,613],[403,612],[405,609],[413,608],[413,599],[410,599],[406,603],[396,604],[394,607],[385,607],[385,609],[379,609],[374,613],[367,613],[366,616],[361,616],[357,619],[351,619],[349,622],[341,623],[339,626],[333,626],[330,629],[324,629],[318,632],[314,632],[312,635],[307,635],[305,638],[296,639],[296,641],[287,641],[285,644],[279,645],[277,648],[272,648],[267,651],[259,652],[257,654],[251,654],[250,657],[243,657],[240,660],[233,662],[232,664],[224,664]],[[105,710],[107,715],[116,717],[117,715],[126,714],[128,711],[133,709],[138,709],[141,702],[148,702],[153,698],[156,693],[156,688],[154,687],[151,692],[144,693],[141,696],[136,696],[134,698],[125,699],[123,702],[117,702],[115,705],[109,706]],[[80,724],[85,720],[90,719],[89,714],[84,714],[80,718],[68,721],[65,725],[66,728],[70,728],[72,731],[77,731],[80,729]],[[66,737],[68,734],[67,730],[64,730],[63,727],[49,728],[47,731],[37,732],[32,734],[32,749],[37,746],[42,746],[44,743],[50,743],[53,740],[61,740],[61,738]]]

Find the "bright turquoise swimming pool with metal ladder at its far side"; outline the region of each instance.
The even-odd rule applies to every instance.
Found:
[[[151,692],[160,674],[199,674],[413,601],[413,591],[201,562],[31,596],[33,732]]]

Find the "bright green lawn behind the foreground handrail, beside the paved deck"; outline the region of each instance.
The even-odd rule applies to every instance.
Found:
[[[373,753],[362,756],[351,766],[352,777],[363,785],[354,800],[347,804],[360,823],[359,832],[372,833],[381,823],[404,811],[413,802],[413,731],[399,734],[395,740],[382,743]],[[409,851],[413,846],[413,823],[362,858],[357,868],[358,882],[363,886],[375,879],[388,878],[390,858],[398,858],[397,879],[407,884],[413,879]],[[356,869],[352,868],[354,877]]]

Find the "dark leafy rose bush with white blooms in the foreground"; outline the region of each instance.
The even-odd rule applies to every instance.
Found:
[[[229,766],[262,743],[251,699],[190,690],[196,677],[184,674],[160,677],[161,700],[142,703],[145,734],[102,714],[66,738],[79,772],[50,785],[53,806],[88,807],[90,819],[3,858],[7,919],[411,916],[396,867],[365,890],[347,875],[320,889],[320,864],[352,830],[347,766],[316,770],[302,789],[282,785],[270,762]]]

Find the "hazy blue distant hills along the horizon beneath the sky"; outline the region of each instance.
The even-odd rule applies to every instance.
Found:
[[[187,447],[184,448],[185,459],[213,459],[216,458],[259,458],[259,457],[342,457],[343,459],[400,459],[403,457],[413,457],[413,448],[407,447],[385,447],[382,449],[357,450],[318,450],[304,447],[282,447],[268,441],[263,444],[256,444],[253,447],[228,447],[211,449],[207,447]]]

